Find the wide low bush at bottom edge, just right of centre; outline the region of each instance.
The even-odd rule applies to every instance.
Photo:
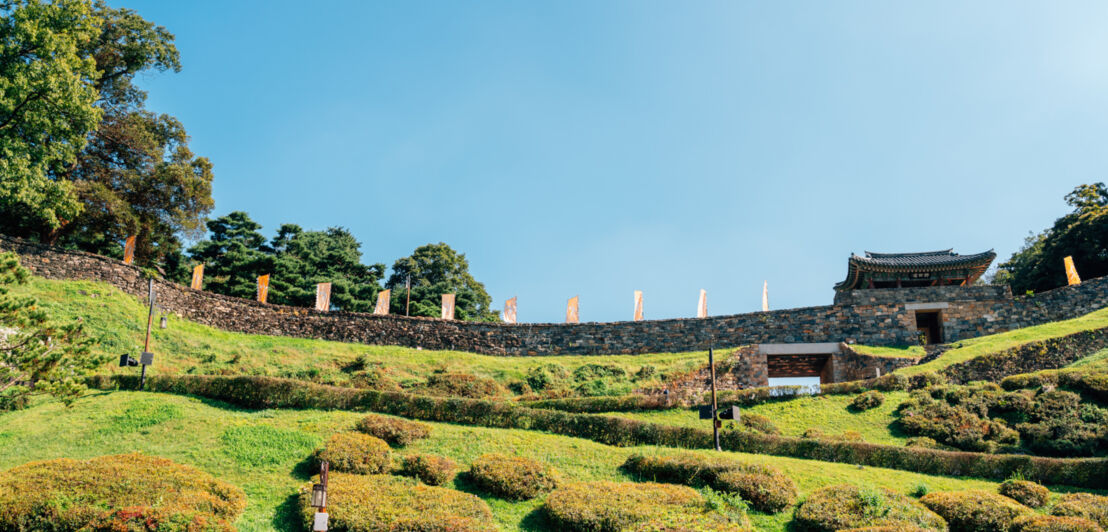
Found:
[[[555,530],[622,532],[650,520],[701,513],[704,499],[684,485],[599,481],[561,487],[543,508]]]

